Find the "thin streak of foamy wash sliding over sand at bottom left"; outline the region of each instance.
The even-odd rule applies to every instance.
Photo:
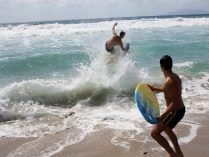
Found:
[[[74,130],[73,132],[59,132],[37,138],[36,140],[23,144],[17,150],[10,152],[8,157],[15,156],[40,156],[48,157],[63,150],[66,146],[83,140],[85,136],[81,132]]]

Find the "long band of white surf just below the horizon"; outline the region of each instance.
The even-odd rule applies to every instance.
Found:
[[[103,21],[96,23],[80,23],[80,24],[40,24],[0,27],[1,38],[9,36],[48,36],[48,35],[66,35],[72,33],[92,33],[108,31],[112,27],[114,21]],[[169,27],[192,27],[192,26],[208,26],[209,18],[153,18],[138,20],[121,20],[119,29],[150,29],[150,28],[169,28]]]

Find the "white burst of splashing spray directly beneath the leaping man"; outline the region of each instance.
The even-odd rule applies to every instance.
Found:
[[[78,69],[79,77],[75,78],[73,83],[94,82],[120,91],[128,90],[140,80],[148,77],[144,69],[136,68],[129,55],[118,58],[114,64],[106,64],[106,59],[106,53],[101,55],[97,53],[90,65],[85,65]]]

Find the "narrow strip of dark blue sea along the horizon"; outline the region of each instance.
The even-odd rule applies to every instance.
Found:
[[[156,15],[156,16],[133,16],[133,17],[106,17],[106,18],[92,18],[92,19],[70,19],[70,20],[51,20],[51,21],[30,21],[30,22],[11,22],[11,23],[0,23],[0,27],[8,26],[8,25],[21,25],[21,24],[29,24],[29,25],[40,25],[40,24],[78,24],[78,23],[94,23],[94,22],[102,22],[102,21],[115,21],[115,20],[137,20],[137,19],[153,19],[153,18],[197,18],[197,17],[209,17],[209,14],[175,14],[175,15]]]

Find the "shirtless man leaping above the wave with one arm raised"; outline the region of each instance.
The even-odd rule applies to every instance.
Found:
[[[108,40],[105,43],[105,48],[106,48],[107,52],[112,53],[112,54],[114,53],[114,46],[117,46],[117,45],[119,45],[121,47],[121,49],[126,52],[126,49],[123,47],[123,43],[122,43],[122,39],[126,33],[121,31],[120,36],[118,36],[117,33],[115,32],[115,26],[117,26],[117,25],[118,25],[118,23],[115,23],[113,25],[113,27],[112,27],[113,36],[110,40]]]

